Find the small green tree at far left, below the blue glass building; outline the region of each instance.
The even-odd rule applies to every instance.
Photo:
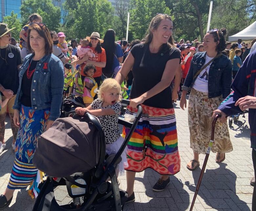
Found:
[[[17,18],[18,14],[15,14],[11,11],[11,15],[4,16],[3,22],[7,24],[9,29],[15,27],[15,29],[11,30],[11,36],[15,38],[15,40],[19,40],[20,31],[22,29],[22,24],[20,20]]]

